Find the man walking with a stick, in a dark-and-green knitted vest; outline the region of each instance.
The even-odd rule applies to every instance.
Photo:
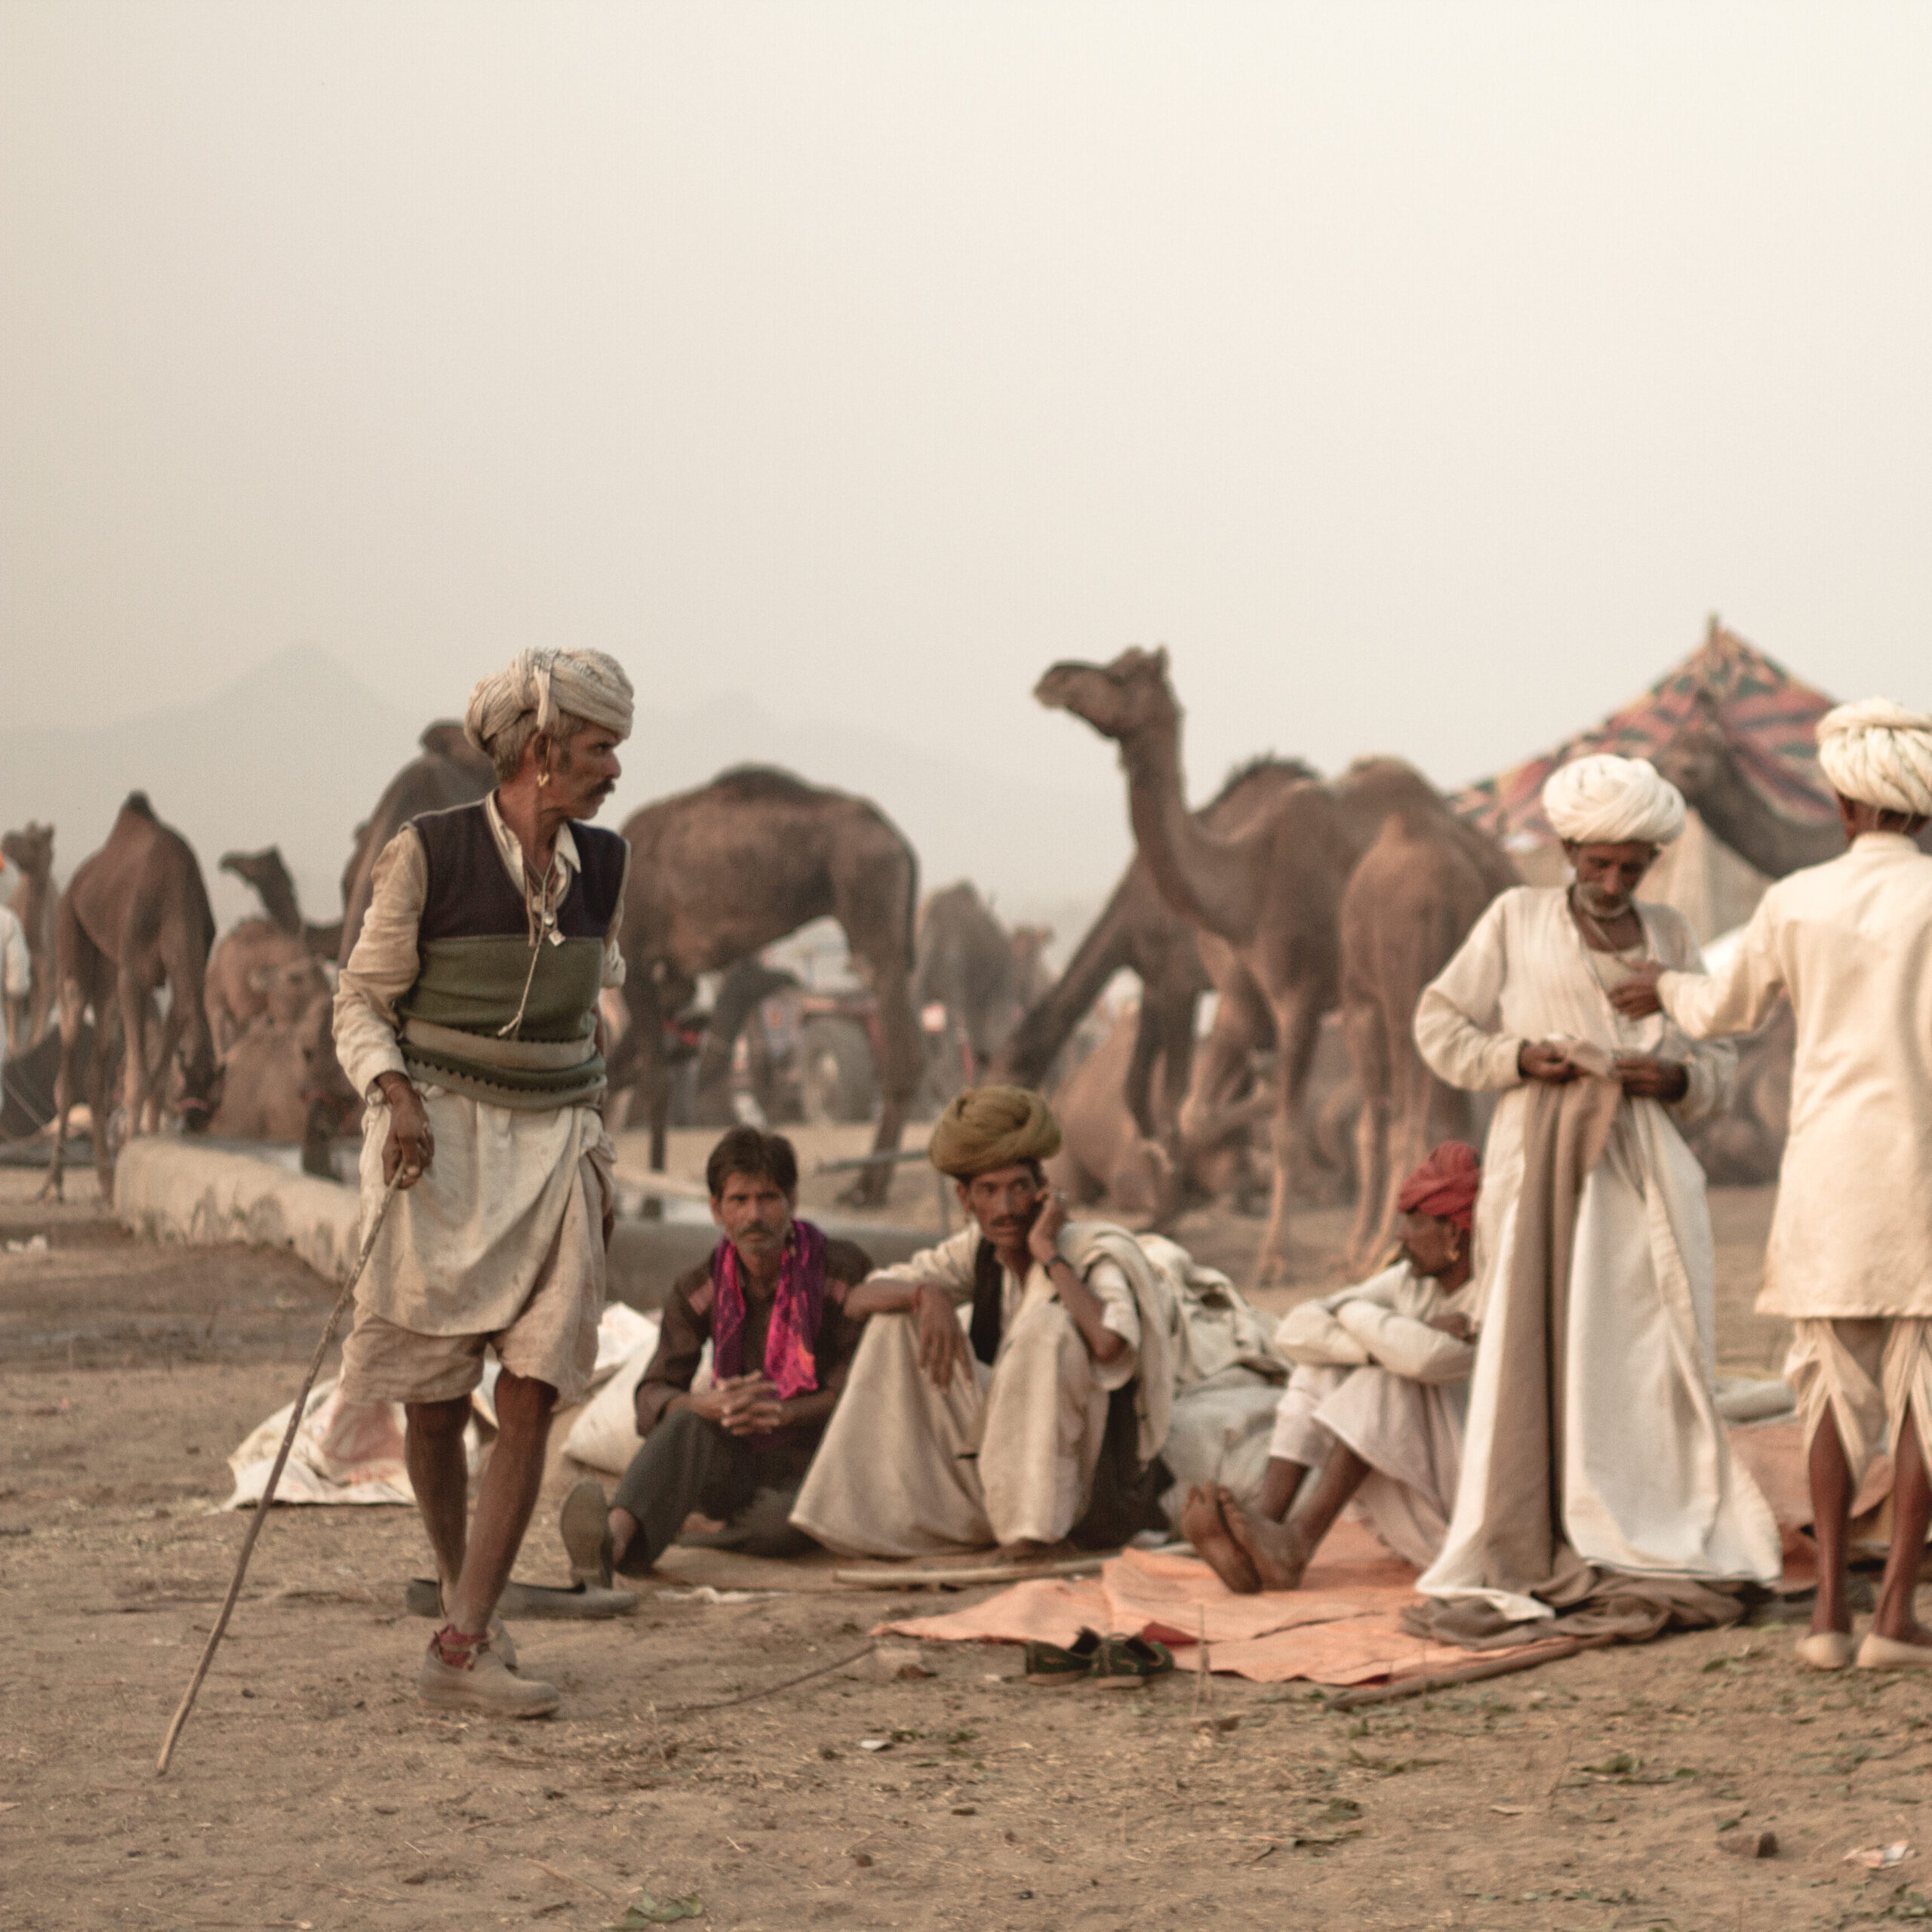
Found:
[[[369,1099],[367,1219],[398,1180],[355,1294],[342,1391],[402,1403],[408,1468],[448,1619],[417,1696],[539,1718],[497,1598],[543,1482],[551,1410],[597,1356],[612,1150],[597,993],[618,985],[630,848],[587,823],[618,779],[632,690],[601,651],[524,651],[469,694],[497,767],[473,806],[406,825],[375,866],[336,989],[336,1053]],[[483,1350],[502,1364],[497,1443],[469,1520],[464,1424]]]

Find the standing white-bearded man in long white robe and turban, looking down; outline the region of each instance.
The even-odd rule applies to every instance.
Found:
[[[1600,1573],[1768,1584],[1781,1571],[1777,1526],[1731,1459],[1714,1403],[1710,1213],[1677,1130],[1723,1103],[1733,1057],[1609,999],[1644,960],[1702,970],[1687,922],[1634,898],[1658,848],[1683,831],[1685,806],[1646,761],[1598,755],[1559,769],[1544,810],[1575,883],[1493,900],[1416,1009],[1428,1065],[1499,1095],[1476,1221],[1480,1341],[1463,1472],[1441,1555],[1418,1584],[1461,1602],[1472,1631],[1546,1619],[1553,1602],[1588,1596]],[[1532,1109],[1538,1086],[1573,1080],[1580,1113],[1567,1126],[1553,1107]],[[1563,1126],[1567,1169],[1549,1159],[1549,1122]],[[1551,1171],[1569,1198],[1551,1198]],[[1551,1325],[1548,1372],[1536,1323]],[[1526,1352],[1526,1341],[1538,1345]],[[1526,1406],[1544,1432],[1538,1470],[1522,1466]],[[1519,1509],[1524,1520],[1495,1520],[1507,1495],[1534,1499]],[[1538,1513],[1540,1524],[1528,1520]],[[1522,1575],[1530,1548],[1565,1580]]]

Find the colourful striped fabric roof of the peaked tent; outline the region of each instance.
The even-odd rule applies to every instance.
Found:
[[[1542,790],[1557,765],[1590,752],[1656,757],[1702,711],[1716,717],[1739,767],[1768,806],[1820,825],[1830,821],[1833,806],[1818,775],[1814,732],[1833,703],[1712,618],[1704,643],[1633,703],[1553,752],[1453,792],[1449,804],[1511,850],[1549,844],[1555,833],[1542,811]]]

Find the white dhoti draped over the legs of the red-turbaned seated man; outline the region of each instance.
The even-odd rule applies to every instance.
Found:
[[[1428,1569],[1449,1534],[1466,1418],[1466,1381],[1302,1364],[1281,1391],[1269,1457],[1316,1468],[1335,1443],[1352,1449],[1372,1474],[1349,1515],[1399,1557]]]

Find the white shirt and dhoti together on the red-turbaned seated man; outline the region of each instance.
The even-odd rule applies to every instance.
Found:
[[[1449,1532],[1474,1347],[1428,1323],[1461,1314],[1468,1289],[1445,1294],[1397,1262],[1354,1287],[1281,1318],[1275,1347],[1294,1374],[1275,1410],[1269,1455],[1318,1466],[1335,1441],[1372,1470],[1349,1513],[1418,1569]]]

